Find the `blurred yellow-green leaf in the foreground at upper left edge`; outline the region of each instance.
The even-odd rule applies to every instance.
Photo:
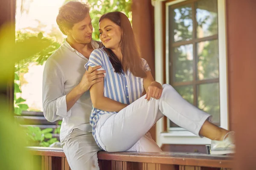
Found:
[[[13,75],[13,65],[23,59],[33,57],[35,54],[44,51],[51,42],[46,38],[28,37],[25,40],[17,41],[13,34],[14,26],[2,26],[0,30],[0,81],[7,81]]]

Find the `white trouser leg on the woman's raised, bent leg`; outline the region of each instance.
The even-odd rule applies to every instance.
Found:
[[[171,85],[165,84],[160,99],[151,98],[147,102],[142,96],[119,113],[103,115],[95,127],[97,140],[108,152],[131,151],[131,147],[164,115],[195,135],[199,135],[210,116],[183,99]],[[147,147],[150,145],[154,146],[154,143]]]

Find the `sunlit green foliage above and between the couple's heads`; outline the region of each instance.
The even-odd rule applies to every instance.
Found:
[[[65,3],[72,0],[65,0]],[[99,18],[108,12],[120,11],[131,21],[132,0],[79,0],[90,6],[90,17],[94,28],[93,39],[99,40]]]

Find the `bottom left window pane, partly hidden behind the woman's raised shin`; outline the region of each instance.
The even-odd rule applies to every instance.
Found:
[[[193,105],[194,95],[193,95],[192,85],[177,86],[174,88],[186,101],[188,101]],[[170,120],[170,127],[179,127],[179,126]]]

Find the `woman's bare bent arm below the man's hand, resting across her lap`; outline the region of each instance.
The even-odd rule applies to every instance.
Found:
[[[88,71],[92,70],[92,67],[88,68]],[[98,82],[91,86],[90,96],[93,102],[93,107],[102,111],[119,112],[125,108],[126,104],[117,102],[104,96],[104,82]]]

